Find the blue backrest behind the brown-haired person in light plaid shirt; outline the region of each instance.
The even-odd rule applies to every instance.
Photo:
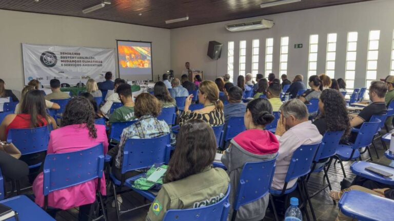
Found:
[[[168,163],[170,151],[170,134],[157,138],[128,139],[123,149],[122,174],[148,168],[155,163]]]

